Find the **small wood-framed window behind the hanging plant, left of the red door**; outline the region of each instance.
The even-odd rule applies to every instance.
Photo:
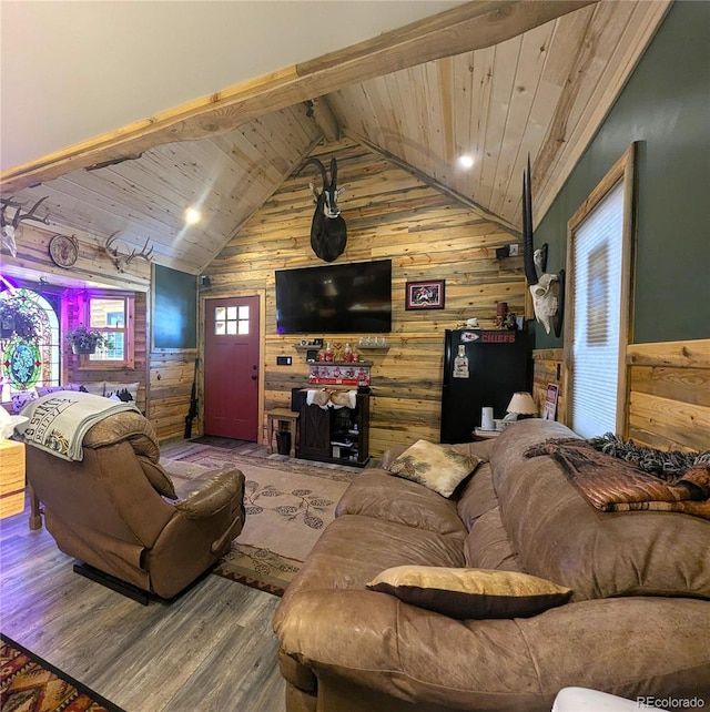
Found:
[[[85,323],[98,330],[105,344],[82,357],[82,368],[133,368],[133,297],[90,295],[85,302]]]

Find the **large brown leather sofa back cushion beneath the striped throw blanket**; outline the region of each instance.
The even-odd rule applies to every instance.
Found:
[[[574,589],[576,600],[710,599],[710,521],[666,511],[599,511],[550,456],[525,457],[532,445],[574,435],[559,423],[526,419],[493,448],[501,520],[524,570]]]

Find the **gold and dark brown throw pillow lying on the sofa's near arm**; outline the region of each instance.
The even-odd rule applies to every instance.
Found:
[[[449,618],[529,618],[567,603],[572,590],[517,571],[398,566],[367,588]]]

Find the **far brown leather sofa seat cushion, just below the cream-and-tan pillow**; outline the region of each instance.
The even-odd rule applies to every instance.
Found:
[[[384,519],[462,540],[466,536],[455,501],[379,469],[367,469],[353,480],[335,509],[336,517],[342,515]]]

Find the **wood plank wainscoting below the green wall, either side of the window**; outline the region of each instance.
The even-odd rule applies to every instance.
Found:
[[[558,384],[557,420],[569,424],[562,349],[536,350],[532,360],[536,403],[541,408],[547,384]],[[710,339],[631,344],[626,368],[623,437],[662,450],[710,448]]]

